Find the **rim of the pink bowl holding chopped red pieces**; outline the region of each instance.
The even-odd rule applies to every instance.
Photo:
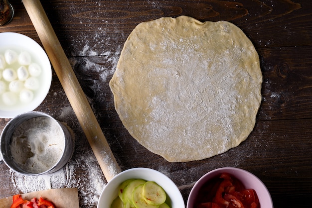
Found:
[[[210,180],[211,178],[214,178],[221,173],[229,173],[229,174],[233,175],[234,177],[236,177],[235,173],[243,173],[245,176],[248,176],[249,178],[256,179],[256,182],[259,185],[261,185],[261,189],[264,191],[264,194],[261,195],[261,197],[266,200],[267,204],[266,204],[265,208],[273,208],[273,201],[272,201],[270,192],[269,192],[268,188],[265,186],[265,184],[256,175],[250,173],[249,171],[246,171],[246,170],[241,169],[241,168],[234,168],[234,167],[217,168],[217,169],[214,169],[214,170],[207,172],[202,177],[200,177],[197,180],[197,182],[194,184],[194,186],[192,187],[192,189],[188,195],[186,208],[193,208],[192,205],[194,203],[195,197],[193,197],[192,195],[195,195],[197,193],[197,191],[201,188],[201,186],[199,184],[205,183],[208,180]],[[208,176],[211,176],[211,177],[208,178]],[[238,178],[238,179],[241,180],[240,178]],[[244,184],[243,180],[241,180],[241,181]],[[248,187],[246,187],[246,188],[248,188]],[[260,199],[259,199],[259,201],[260,201]],[[260,204],[260,206],[261,206],[261,204]]]

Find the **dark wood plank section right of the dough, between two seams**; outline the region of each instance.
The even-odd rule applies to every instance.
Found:
[[[259,120],[311,118],[312,47],[260,49],[263,73]]]

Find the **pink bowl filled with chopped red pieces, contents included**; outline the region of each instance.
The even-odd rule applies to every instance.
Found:
[[[186,208],[273,208],[273,203],[258,177],[225,167],[206,173],[195,183]]]

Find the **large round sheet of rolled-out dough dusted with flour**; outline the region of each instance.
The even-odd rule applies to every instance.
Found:
[[[238,146],[261,103],[259,56],[227,21],[188,16],[143,22],[131,32],[110,81],[130,134],[169,162]]]

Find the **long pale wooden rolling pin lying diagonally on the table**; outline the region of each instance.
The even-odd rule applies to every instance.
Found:
[[[39,0],[22,0],[94,155],[109,182],[121,172],[93,110]]]

